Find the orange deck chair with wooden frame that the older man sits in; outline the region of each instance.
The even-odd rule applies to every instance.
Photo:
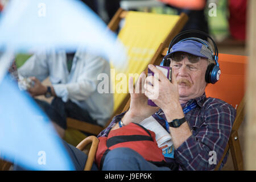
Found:
[[[167,49],[168,48],[165,48],[164,51],[162,51],[162,53],[158,55],[158,59],[156,59],[155,64],[160,64],[160,61],[162,60],[163,56],[166,55]],[[244,95],[247,57],[237,55],[226,55],[220,53],[218,62],[220,63],[220,68],[222,72],[221,79],[214,85],[209,84],[205,89],[205,93],[207,97],[220,98],[221,100],[228,102],[235,109],[237,109],[237,115],[232,126],[232,132],[230,134],[228,144],[224,150],[224,154],[220,162],[216,165],[215,170],[218,170],[220,168],[221,162],[229,149],[232,155],[234,169],[243,170],[242,151],[237,131],[245,115]],[[129,106],[130,100],[127,102],[123,110],[129,109]],[[95,140],[97,140],[97,138]],[[81,143],[83,142],[84,141],[82,141]],[[88,160],[88,163],[91,161],[92,160]]]

